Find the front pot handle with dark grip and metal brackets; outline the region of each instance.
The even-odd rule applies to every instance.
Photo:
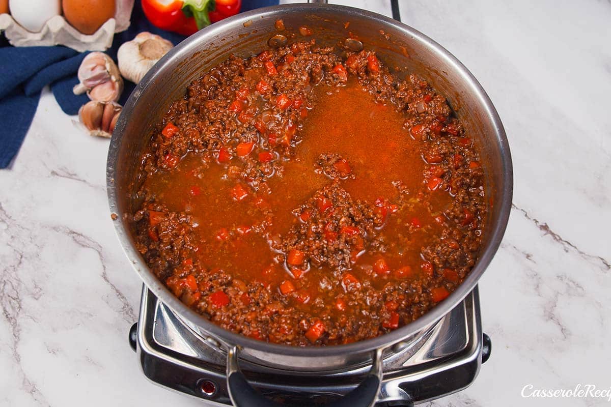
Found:
[[[353,391],[326,407],[373,407],[378,399],[382,384],[382,350],[373,352],[373,362],[367,377]],[[227,391],[235,407],[283,407],[284,405],[268,400],[256,391],[246,380],[238,366],[238,347],[227,353]]]

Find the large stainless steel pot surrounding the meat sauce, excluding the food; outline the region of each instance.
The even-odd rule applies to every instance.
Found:
[[[287,27],[281,33],[274,27],[279,18]],[[346,28],[345,23],[348,22],[349,27]],[[134,247],[132,214],[137,204],[134,199],[134,175],[153,127],[172,101],[185,95],[189,82],[227,59],[230,54],[240,57],[257,54],[268,46],[269,38],[276,34],[288,36],[302,25],[313,29],[313,38],[319,45],[342,43],[350,31],[362,40],[365,48],[375,49],[378,57],[395,69],[398,76],[420,74],[437,91],[447,96],[467,133],[476,140],[488,173],[486,193],[492,199],[478,261],[464,283],[420,319],[392,333],[348,345],[290,347],[268,344],[226,331],[191,311],[174,297],[153,275]],[[382,350],[397,342],[417,339],[474,289],[499,247],[507,225],[513,191],[511,156],[505,131],[488,95],[467,68],[450,52],[409,26],[365,10],[327,4],[279,5],[241,13],[197,32],[172,49],[142,79],[125,104],[112,135],[106,172],[110,209],[118,215],[115,228],[134,269],[153,294],[194,331],[227,351],[228,373],[237,372],[239,350],[240,357],[249,362],[279,370],[298,370],[304,374],[338,371],[346,366],[374,361],[373,376],[379,377],[379,360],[384,356]],[[232,374],[229,376],[232,377]],[[238,378],[238,375],[233,374],[233,378]],[[245,386],[245,383],[233,383],[233,388],[236,385]],[[373,384],[369,383],[365,387],[373,392],[371,386]],[[254,396],[247,394],[247,397]],[[361,400],[367,397],[363,394],[358,396]],[[238,405],[239,400],[235,400],[235,403]],[[359,402],[356,405],[362,404]]]

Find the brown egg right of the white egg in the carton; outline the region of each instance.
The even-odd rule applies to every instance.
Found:
[[[64,17],[83,34],[93,34],[114,17],[115,0],[62,0]]]

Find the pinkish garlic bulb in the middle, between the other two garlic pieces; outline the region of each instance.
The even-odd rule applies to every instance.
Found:
[[[78,68],[81,83],[73,88],[75,95],[87,92],[89,99],[116,102],[123,92],[123,78],[114,61],[104,52],[91,52]]]

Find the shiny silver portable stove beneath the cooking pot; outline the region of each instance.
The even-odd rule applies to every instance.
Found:
[[[216,340],[194,333],[146,287],[130,342],[153,383],[207,400],[207,406],[231,405],[225,383],[227,351]],[[481,331],[475,287],[419,339],[390,348],[376,407],[411,406],[464,389],[490,351],[490,339]],[[290,406],[312,406],[346,394],[369,369],[347,367],[345,372],[314,376],[248,361],[240,361],[240,366],[258,391]]]

